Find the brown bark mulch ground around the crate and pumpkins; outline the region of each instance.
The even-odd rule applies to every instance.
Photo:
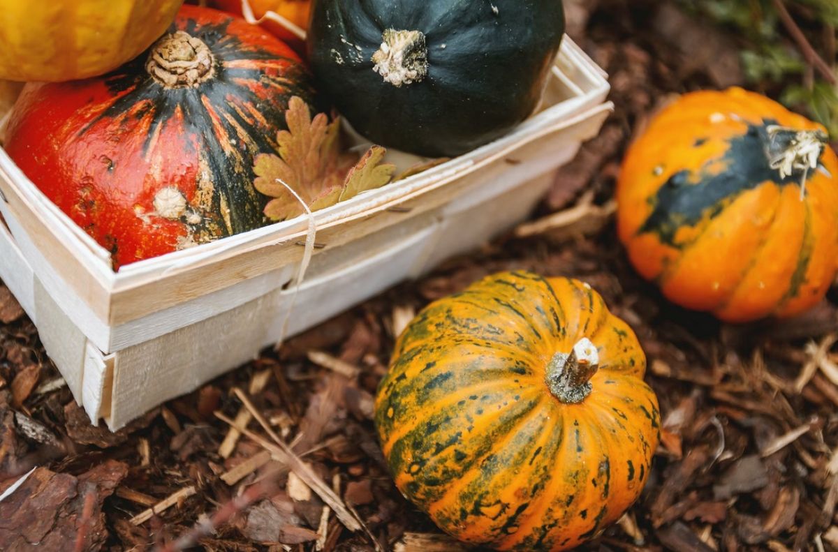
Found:
[[[617,110],[534,218],[584,216],[524,226],[116,434],[89,425],[0,286],[0,490],[37,466],[0,502],[0,549],[460,549],[394,488],[371,421],[375,387],[411,313],[525,268],[600,291],[638,334],[660,398],[663,441],[644,494],[587,549],[838,550],[838,290],[799,320],[722,325],[665,302],[614,234],[627,143],[671,95],[741,83],[735,38],[667,4],[568,4]],[[216,411],[256,436],[230,436]]]

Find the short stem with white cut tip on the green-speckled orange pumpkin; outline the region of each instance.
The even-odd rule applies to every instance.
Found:
[[[590,379],[599,369],[599,353],[588,338],[580,339],[568,353],[556,353],[547,365],[547,386],[567,405],[581,403],[591,394]]]

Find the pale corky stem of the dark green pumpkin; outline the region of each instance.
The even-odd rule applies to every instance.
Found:
[[[421,82],[427,76],[425,35],[388,28],[381,34],[381,47],[372,54],[372,60],[373,70],[396,88]]]

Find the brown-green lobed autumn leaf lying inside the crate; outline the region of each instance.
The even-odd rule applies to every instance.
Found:
[[[278,155],[262,153],[253,165],[254,187],[273,198],[265,206],[267,218],[285,220],[303,214],[300,199],[316,211],[391,181],[396,168],[380,164],[382,147],[371,147],[352,166],[354,156],[340,150],[338,119],[329,123],[323,113],[312,118],[308,105],[297,96],[288,102],[285,119],[288,130],[277,132]]]

